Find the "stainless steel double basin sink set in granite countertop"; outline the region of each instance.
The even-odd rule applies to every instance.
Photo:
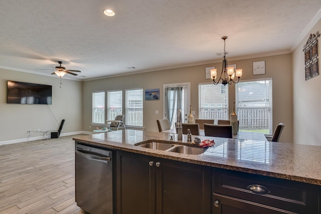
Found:
[[[206,148],[155,141],[145,142],[142,144],[138,144],[137,146],[156,150],[177,152],[182,154],[203,154],[206,151]]]

